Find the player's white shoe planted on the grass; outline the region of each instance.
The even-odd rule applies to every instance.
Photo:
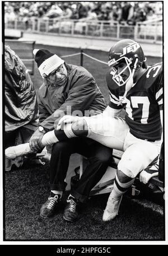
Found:
[[[109,196],[108,203],[106,205],[106,208],[102,216],[102,220],[103,221],[113,220],[116,217],[116,215],[118,215],[121,202],[122,202],[122,197],[120,197],[119,199],[114,199]]]

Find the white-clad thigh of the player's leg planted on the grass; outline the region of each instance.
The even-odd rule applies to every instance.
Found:
[[[158,148],[150,142],[134,143],[123,153],[118,169],[130,178],[135,178],[158,155]]]

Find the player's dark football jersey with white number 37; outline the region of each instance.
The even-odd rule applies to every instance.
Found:
[[[111,71],[112,69],[106,75],[110,92],[109,106],[113,109],[125,108],[125,121],[129,125],[130,133],[137,138],[148,141],[161,139],[162,63],[149,67],[127,92],[123,101],[125,85],[119,87],[112,79]]]

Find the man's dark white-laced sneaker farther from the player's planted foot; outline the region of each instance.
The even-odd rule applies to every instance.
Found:
[[[40,216],[42,218],[50,218],[54,215],[55,210],[60,202],[60,195],[54,194],[53,192],[50,193],[50,197],[48,201],[46,201],[40,210]]]

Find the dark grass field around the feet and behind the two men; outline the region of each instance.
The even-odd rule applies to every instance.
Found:
[[[78,49],[56,48],[36,45],[58,55],[79,52]],[[108,53],[86,50],[93,57],[108,61]],[[148,58],[148,64],[160,62],[158,58]],[[67,63],[80,64],[80,56],[66,58]],[[83,66],[95,77],[108,104],[108,88],[105,73],[108,67],[84,57]],[[38,91],[43,79],[35,65],[35,75],[31,77]],[[13,168],[5,173],[4,239],[6,240],[164,240],[164,208],[147,199],[130,199],[125,196],[120,214],[114,221],[102,222],[102,213],[108,195],[91,197],[82,206],[80,216],[74,224],[63,220],[63,204],[52,220],[42,220],[39,216],[41,204],[49,194],[49,162],[43,165],[25,164],[20,169]],[[67,193],[67,192],[66,192]]]

